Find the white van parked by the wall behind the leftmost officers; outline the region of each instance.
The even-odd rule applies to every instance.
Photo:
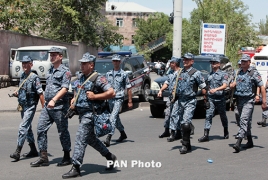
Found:
[[[10,78],[12,81],[19,81],[22,70],[22,60],[23,56],[30,56],[33,59],[32,70],[35,71],[42,84],[45,84],[46,73],[48,69],[52,66],[50,62],[50,53],[48,51],[51,47],[58,47],[63,50],[62,64],[69,67],[69,55],[67,48],[64,46],[26,46],[16,49],[14,57],[10,58]],[[14,52],[14,49],[11,49]]]

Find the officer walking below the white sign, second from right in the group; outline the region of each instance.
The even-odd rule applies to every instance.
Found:
[[[199,138],[199,142],[209,141],[209,130],[212,125],[212,117],[215,109],[218,110],[221,123],[224,128],[223,139],[229,139],[228,119],[226,116],[226,106],[224,89],[228,85],[228,74],[220,70],[220,57],[216,56],[210,60],[212,72],[208,75],[207,94],[210,108],[206,110],[206,120],[204,136]]]

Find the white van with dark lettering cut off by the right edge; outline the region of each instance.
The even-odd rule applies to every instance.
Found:
[[[268,75],[268,46],[263,47],[260,53],[256,53],[251,58],[251,65],[259,71],[265,85]]]

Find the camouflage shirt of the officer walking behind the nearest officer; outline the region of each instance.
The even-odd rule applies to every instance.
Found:
[[[131,88],[128,75],[125,71],[120,69],[119,71],[110,70],[106,73],[108,83],[114,88],[115,98],[123,98],[125,95],[125,89]]]

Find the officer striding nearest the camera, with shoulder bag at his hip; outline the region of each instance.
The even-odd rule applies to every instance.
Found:
[[[83,158],[87,145],[89,144],[94,149],[96,149],[102,156],[106,157],[107,160],[115,161],[116,156],[111,154],[105,145],[96,137],[94,132],[94,120],[92,119],[93,106],[98,109],[101,103],[94,103],[96,100],[110,99],[115,96],[114,89],[108,83],[106,77],[98,75],[95,83],[92,81],[87,81],[88,77],[94,71],[95,56],[85,53],[79,61],[81,62],[82,74],[78,78],[75,87],[75,94],[80,89],[80,94],[77,98],[77,103],[75,108],[79,113],[80,124],[78,131],[76,133],[76,140],[74,146],[74,153],[72,157],[72,168],[68,173],[62,175],[62,178],[73,178],[81,176],[80,166],[83,163]],[[83,85],[83,86],[82,86]],[[92,87],[94,89],[92,90]],[[72,99],[71,104],[73,104],[74,99]],[[71,106],[74,108],[73,106]],[[111,170],[113,165],[111,165],[108,170]]]

